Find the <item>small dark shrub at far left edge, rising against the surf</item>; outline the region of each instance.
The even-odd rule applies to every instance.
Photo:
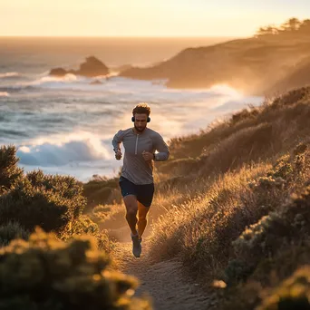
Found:
[[[23,176],[23,170],[17,167],[18,160],[15,146],[0,148],[0,194]]]

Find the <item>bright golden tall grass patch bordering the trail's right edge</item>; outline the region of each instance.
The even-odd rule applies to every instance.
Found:
[[[204,194],[172,206],[154,225],[151,257],[162,259],[180,255],[197,273],[213,273],[220,260],[227,257],[225,252],[230,241],[238,237],[247,224],[254,223],[261,216],[259,209],[240,205],[249,189],[248,182],[268,169],[268,165],[261,165],[243,168],[238,173],[228,172],[210,188],[207,185]],[[228,221],[233,222],[230,232],[218,229],[228,229]],[[229,239],[223,239],[222,235],[227,233]],[[223,244],[224,241],[227,245]],[[158,251],[159,247],[161,251]]]

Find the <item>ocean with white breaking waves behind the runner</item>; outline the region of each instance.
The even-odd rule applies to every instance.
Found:
[[[132,126],[138,102],[151,107],[149,127],[165,140],[205,130],[232,112],[263,102],[228,85],[209,89],[169,89],[162,82],[114,76],[102,84],[54,67],[77,69],[94,55],[110,68],[148,66],[187,47],[228,38],[0,38],[0,142],[17,147],[24,171],[112,177],[121,167],[111,147],[113,135]]]

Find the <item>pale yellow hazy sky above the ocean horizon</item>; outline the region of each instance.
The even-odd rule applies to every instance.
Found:
[[[0,35],[247,36],[310,0],[0,0]]]

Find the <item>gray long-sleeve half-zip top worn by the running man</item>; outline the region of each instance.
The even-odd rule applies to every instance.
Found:
[[[145,161],[142,152],[145,150],[154,153],[157,150],[155,161],[168,160],[170,151],[160,134],[150,128],[137,134],[130,128],[115,134],[112,140],[113,150],[120,149],[121,142],[125,149],[121,176],[134,184],[153,183],[153,163]]]

